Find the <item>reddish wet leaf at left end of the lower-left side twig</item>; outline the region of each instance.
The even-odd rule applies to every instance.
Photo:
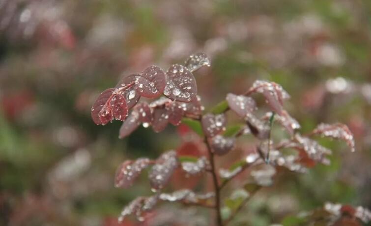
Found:
[[[124,161],[116,171],[114,186],[116,188],[130,187],[149,164],[150,160],[147,158],[140,158],[136,161]]]

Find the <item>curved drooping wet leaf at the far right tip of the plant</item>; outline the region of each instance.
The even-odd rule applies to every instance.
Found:
[[[355,151],[354,137],[350,129],[344,124],[336,123],[330,124],[320,124],[313,130],[314,134],[319,134],[326,137],[332,137],[335,139],[344,140],[346,144],[350,147],[351,151]]]

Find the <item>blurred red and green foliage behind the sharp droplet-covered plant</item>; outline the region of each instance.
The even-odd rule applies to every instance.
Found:
[[[291,94],[301,131],[341,122],[355,135],[355,153],[323,141],[331,165],[281,176],[238,221],[267,226],[325,201],[371,207],[371,1],[0,0],[0,225],[118,226],[121,208],[150,191],[145,175],[115,189],[117,166],[184,140],[172,126],[120,140],[121,123],[96,126],[90,107],[122,75],[195,52],[212,59],[195,73],[206,110],[267,79]],[[192,219],[176,225],[209,221],[192,208],[156,211]]]

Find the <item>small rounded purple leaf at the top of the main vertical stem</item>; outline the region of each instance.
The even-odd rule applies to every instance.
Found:
[[[206,114],[201,119],[203,132],[207,137],[214,137],[226,129],[226,117],[224,114]]]

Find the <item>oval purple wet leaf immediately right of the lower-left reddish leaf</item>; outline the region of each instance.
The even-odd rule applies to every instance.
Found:
[[[175,151],[162,154],[149,172],[148,177],[152,188],[155,190],[164,188],[178,165],[179,162]]]

